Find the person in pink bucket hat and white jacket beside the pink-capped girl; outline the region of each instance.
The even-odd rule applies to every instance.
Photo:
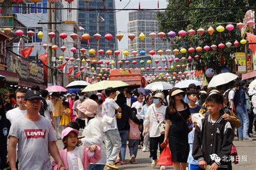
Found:
[[[103,127],[101,125],[101,117],[98,114],[98,104],[87,99],[83,103],[78,104],[77,109],[83,112],[84,118],[88,119],[88,123],[84,128],[81,139],[83,146],[90,147],[91,145],[98,145],[102,151],[102,159],[97,164],[91,164],[89,170],[103,170],[106,164],[106,146],[104,144]]]

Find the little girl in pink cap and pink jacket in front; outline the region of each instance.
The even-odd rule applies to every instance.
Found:
[[[78,130],[69,127],[62,131],[64,150],[59,153],[66,170],[86,170],[90,163],[96,164],[102,158],[100,147],[97,145],[89,148],[77,146],[78,134]],[[58,169],[56,161],[52,162],[52,169]]]

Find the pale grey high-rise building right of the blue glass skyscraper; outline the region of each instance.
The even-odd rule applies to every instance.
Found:
[[[146,53],[149,53],[151,49],[156,52],[159,49],[168,49],[169,42],[164,41],[156,37],[152,40],[149,36],[150,33],[155,32],[158,33],[158,20],[157,20],[157,11],[132,11],[129,12],[129,23],[128,23],[128,33],[133,33],[136,35],[136,38],[131,41],[129,39],[129,51],[144,50]],[[142,42],[139,39],[139,34],[143,32],[146,36],[144,41]]]

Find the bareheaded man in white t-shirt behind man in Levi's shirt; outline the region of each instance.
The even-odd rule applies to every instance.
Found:
[[[19,120],[26,114],[26,106],[24,104],[24,97],[25,97],[26,91],[28,90],[24,88],[18,88],[15,91],[18,108],[11,109],[8,112],[6,112],[6,118],[9,119],[11,124],[16,120]]]

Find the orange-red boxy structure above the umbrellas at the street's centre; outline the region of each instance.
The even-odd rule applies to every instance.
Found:
[[[130,86],[140,86],[142,75],[139,69],[130,70],[111,70],[109,80],[120,80]]]

